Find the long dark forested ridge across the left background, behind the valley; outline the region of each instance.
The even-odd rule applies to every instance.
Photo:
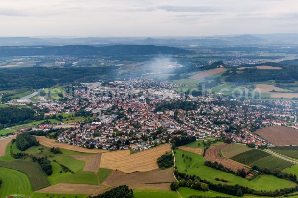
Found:
[[[190,51],[157,45],[111,45],[94,47],[91,45],[64,45],[64,46],[2,46],[0,56],[35,56],[35,55],[153,55],[153,54],[190,54]]]

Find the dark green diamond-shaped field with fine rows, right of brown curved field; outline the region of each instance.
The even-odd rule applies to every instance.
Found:
[[[235,155],[230,159],[238,161],[241,164],[250,166],[250,164],[253,164],[255,161],[258,161],[267,156],[270,156],[270,154],[266,153],[265,151],[259,149],[252,149],[243,153],[239,153],[238,155]]]

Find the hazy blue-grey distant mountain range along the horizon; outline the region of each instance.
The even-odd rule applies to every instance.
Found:
[[[243,34],[214,35],[201,37],[84,37],[84,38],[37,38],[37,37],[0,37],[0,46],[14,45],[198,45],[198,46],[261,46],[297,45],[298,34]]]

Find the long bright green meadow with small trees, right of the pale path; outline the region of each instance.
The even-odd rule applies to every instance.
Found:
[[[175,151],[176,151],[175,166],[178,167],[179,172],[183,172],[189,175],[195,174],[201,177],[201,179],[206,179],[212,183],[222,183],[227,185],[239,184],[255,190],[267,190],[267,191],[268,190],[274,191],[275,189],[289,188],[289,187],[296,186],[294,182],[279,179],[273,175],[263,175],[261,177],[255,178],[254,180],[249,181],[245,178],[204,166],[205,159],[201,155],[189,153],[187,151],[182,151],[179,149]],[[182,154],[192,157],[192,161],[187,159],[185,162],[183,162],[183,159],[185,158],[185,156],[183,158],[181,156]],[[221,181],[217,181],[215,180],[216,177],[228,180],[228,182],[223,183]]]

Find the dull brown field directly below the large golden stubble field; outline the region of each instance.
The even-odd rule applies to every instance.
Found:
[[[123,173],[121,171],[113,171],[105,181],[102,183],[106,186],[120,186],[131,184],[143,184],[149,185],[150,183],[164,183],[173,182],[175,178],[173,176],[173,168],[165,170],[155,169],[148,172],[133,172]],[[168,184],[169,186],[169,184]],[[148,188],[148,187],[146,187]]]

